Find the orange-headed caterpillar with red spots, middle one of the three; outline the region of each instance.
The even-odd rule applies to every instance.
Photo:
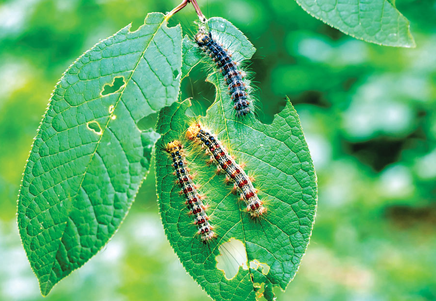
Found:
[[[186,131],[186,137],[206,147],[211,154],[211,161],[215,161],[219,170],[226,173],[226,181],[233,181],[235,189],[240,192],[240,199],[247,206],[247,212],[252,218],[260,217],[267,209],[257,196],[257,189],[253,187],[252,178],[248,177],[235,159],[229,155],[218,138],[201,127],[200,124],[191,125]]]

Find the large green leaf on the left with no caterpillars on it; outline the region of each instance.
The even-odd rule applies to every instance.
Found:
[[[115,233],[158,134],[142,118],[177,100],[182,31],[161,13],[80,56],[55,87],[26,165],[18,228],[42,295]]]

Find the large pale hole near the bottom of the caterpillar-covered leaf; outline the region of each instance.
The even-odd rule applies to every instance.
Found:
[[[217,260],[217,268],[224,272],[224,277],[230,280],[236,276],[239,271],[239,266],[244,270],[247,266],[247,253],[244,244],[235,238],[231,238],[228,242],[223,243],[218,247],[220,255]]]

